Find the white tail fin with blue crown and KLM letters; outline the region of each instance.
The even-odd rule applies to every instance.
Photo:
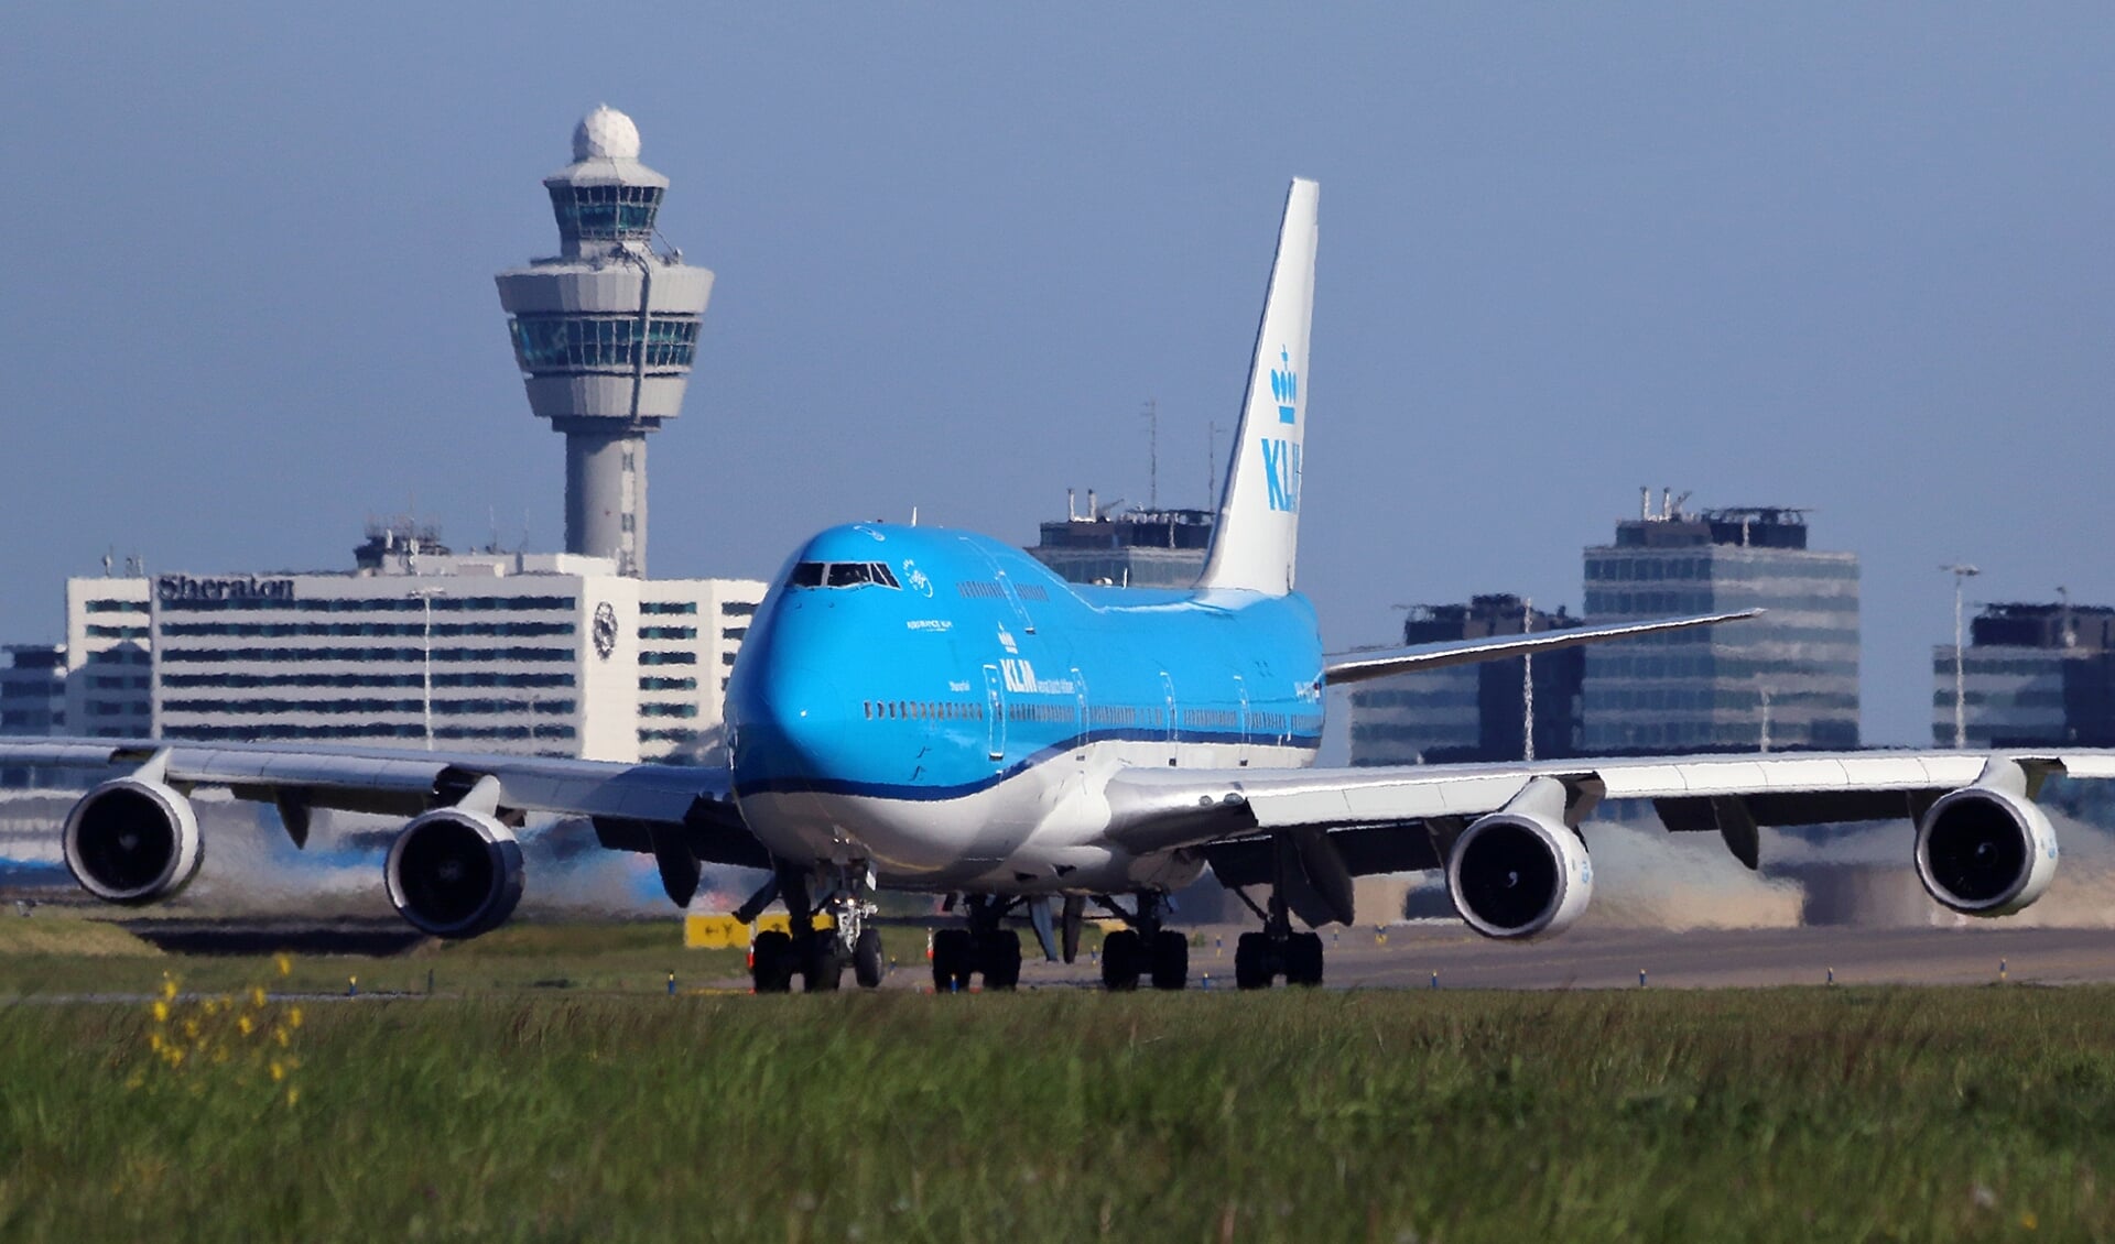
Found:
[[[1316,213],[1322,188],[1294,177],[1277,228],[1277,260],[1248,365],[1227,488],[1199,589],[1284,596],[1301,528],[1301,441],[1307,437],[1307,327],[1316,304]]]

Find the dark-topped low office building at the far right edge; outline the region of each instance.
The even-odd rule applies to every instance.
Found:
[[[2115,608],[1988,604],[1961,651],[1969,748],[2115,746]],[[1931,651],[1931,741],[1954,743],[1954,646]]]

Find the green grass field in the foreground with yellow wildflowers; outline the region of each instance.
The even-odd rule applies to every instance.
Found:
[[[2115,1236],[2109,988],[668,999],[493,967],[662,955],[584,936],[446,950],[495,980],[459,997],[6,1003],[0,1238]],[[336,972],[40,980],[131,959]]]

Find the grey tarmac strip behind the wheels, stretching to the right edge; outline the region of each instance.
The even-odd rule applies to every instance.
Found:
[[[899,938],[901,931],[890,929]],[[1233,986],[1242,929],[1208,929],[1191,948],[1191,986]],[[1459,925],[1398,925],[1322,934],[1332,988],[1732,988],[1770,984],[2081,984],[2115,982],[2115,929],[1574,929],[1546,942],[1491,942]],[[1030,948],[1034,944],[1030,942]],[[890,984],[928,984],[907,959]],[[1022,986],[1098,984],[1087,963],[1030,959]]]

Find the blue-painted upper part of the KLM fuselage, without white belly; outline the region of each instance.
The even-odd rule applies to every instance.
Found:
[[[789,587],[804,562],[882,562],[897,587]],[[734,781],[958,798],[1089,741],[1313,750],[1320,674],[1301,596],[1083,587],[986,536],[831,528],[751,621]]]

